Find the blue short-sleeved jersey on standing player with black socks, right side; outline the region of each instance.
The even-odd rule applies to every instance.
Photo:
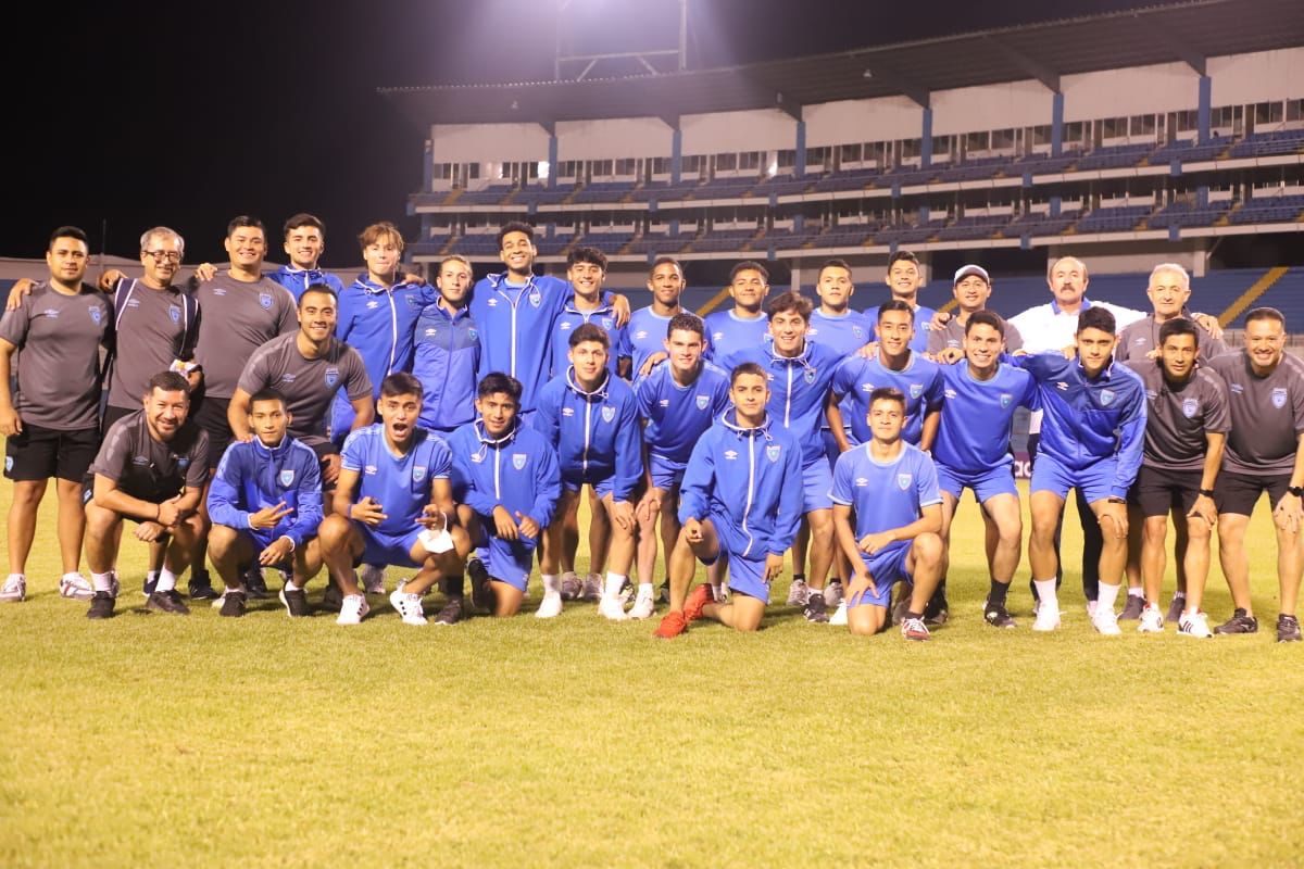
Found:
[[[1039,409],[1037,383],[1022,369],[1001,363],[990,380],[978,380],[969,363],[943,365],[941,420],[932,457],[964,474],[1013,461],[1009,431],[1020,408]]]

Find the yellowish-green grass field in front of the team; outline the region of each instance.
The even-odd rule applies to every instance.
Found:
[[[1273,642],[1266,511],[1253,637],[1099,637],[1076,571],[1034,636],[1026,559],[998,633],[966,499],[932,642],[784,606],[662,642],[593,605],[449,629],[377,598],[359,628],[275,601],[146,615],[134,541],[91,623],[57,594],[52,499],[31,597],[0,608],[0,865],[1304,862],[1304,649]]]

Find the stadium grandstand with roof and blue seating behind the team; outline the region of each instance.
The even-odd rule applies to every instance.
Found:
[[[429,129],[408,201],[415,262],[456,251],[493,264],[497,228],[527,220],[545,267],[592,245],[610,257],[610,287],[642,287],[657,255],[685,261],[700,309],[738,259],[810,288],[836,255],[863,285],[909,248],[931,266],[926,304],[979,262],[1011,314],[1045,302],[1047,259],[1072,253],[1099,297],[1148,307],[1141,275],[1176,261],[1198,279],[1200,309],[1228,326],[1253,304],[1304,322],[1304,267],[1290,267],[1304,240],[1297,0],[382,93]],[[1223,246],[1253,254],[1224,262]]]

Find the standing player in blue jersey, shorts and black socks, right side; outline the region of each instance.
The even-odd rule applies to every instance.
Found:
[[[966,487],[995,526],[995,546],[987,550],[991,586],[983,605],[983,619],[994,628],[1015,627],[1005,595],[1024,538],[1009,433],[1020,406],[1041,406],[1031,375],[1000,361],[1004,327],[995,311],[975,310],[965,319],[965,361],[941,366],[944,399],[932,448],[941,489],[941,576],[951,559],[951,524]]]

